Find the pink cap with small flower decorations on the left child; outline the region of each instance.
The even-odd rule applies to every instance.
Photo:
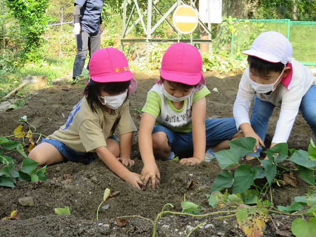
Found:
[[[129,94],[134,93],[137,88],[125,55],[116,48],[101,48],[96,51],[89,62],[89,75],[93,81],[101,83],[130,80]]]

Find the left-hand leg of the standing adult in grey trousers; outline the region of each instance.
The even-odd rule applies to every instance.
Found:
[[[77,54],[74,62],[73,78],[77,78],[82,73],[84,62],[88,54],[88,40],[89,34],[85,31],[81,31],[81,33],[76,36]]]

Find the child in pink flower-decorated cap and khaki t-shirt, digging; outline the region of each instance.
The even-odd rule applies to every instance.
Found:
[[[127,60],[116,48],[100,49],[91,57],[89,74],[84,96],[66,123],[43,139],[29,158],[42,166],[68,160],[90,163],[99,157],[122,180],[140,189],[139,174],[125,167],[134,165],[130,152],[137,131],[128,104],[136,81]],[[116,129],[119,143],[113,136]]]

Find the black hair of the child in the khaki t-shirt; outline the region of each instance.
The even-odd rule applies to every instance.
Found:
[[[130,85],[130,80],[127,81],[121,81],[121,82],[96,82],[93,81],[92,79],[89,80],[89,83],[86,85],[84,89],[84,96],[87,98],[89,107],[91,108],[92,112],[95,112],[95,107],[97,106],[101,108],[102,103],[99,100],[98,95],[99,91],[102,90],[104,92],[107,92],[109,94],[117,94],[120,92],[124,92],[128,89]],[[126,99],[128,98],[128,91],[127,91],[127,96]]]

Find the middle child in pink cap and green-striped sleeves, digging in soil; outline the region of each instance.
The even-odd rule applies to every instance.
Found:
[[[160,80],[148,92],[142,109],[138,143],[144,163],[143,187],[151,179],[155,188],[160,180],[155,158],[168,160],[193,151],[193,157],[179,162],[198,164],[204,157],[210,159],[205,156],[206,147],[214,152],[228,149],[225,141],[240,136],[234,118],[205,119],[208,94],[197,48],[187,43],[172,44],[162,57]]]

